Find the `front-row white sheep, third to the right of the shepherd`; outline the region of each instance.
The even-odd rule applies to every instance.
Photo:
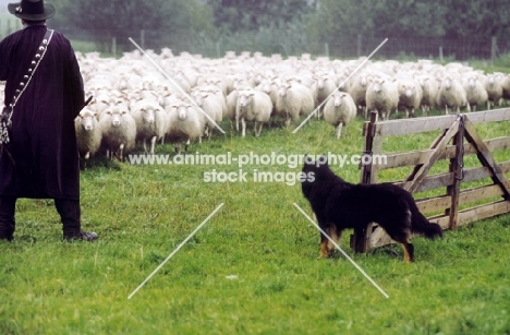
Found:
[[[167,115],[163,108],[154,99],[142,99],[131,109],[131,116],[136,122],[136,140],[144,143],[147,153],[147,140],[150,140],[150,154],[157,140],[162,140],[167,132]]]

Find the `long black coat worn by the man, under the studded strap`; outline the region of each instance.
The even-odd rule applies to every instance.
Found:
[[[5,105],[14,96],[46,33],[27,26],[0,43]],[[0,157],[0,196],[80,199],[80,158],[74,118],[84,101],[80,65],[70,41],[54,32],[46,55],[14,107],[12,154]],[[23,168],[21,168],[23,167]]]

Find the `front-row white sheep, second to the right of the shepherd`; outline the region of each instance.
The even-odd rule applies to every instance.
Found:
[[[107,147],[107,157],[124,159],[124,153],[134,149],[136,122],[124,105],[107,108],[99,116],[102,143]]]

